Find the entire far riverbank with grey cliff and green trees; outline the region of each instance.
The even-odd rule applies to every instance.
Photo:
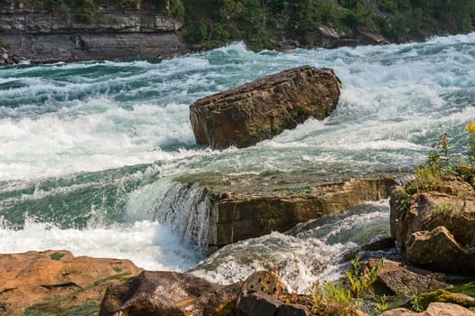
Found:
[[[424,11],[427,4],[361,6],[317,1],[305,8],[298,3],[230,1],[211,7],[182,0],[163,3],[5,1],[0,4],[0,46],[7,51],[0,64],[163,58],[238,41],[254,51],[424,41],[438,34],[470,32],[474,27],[470,14],[475,14],[470,6],[461,11],[461,4]],[[315,5],[317,13],[312,11]],[[445,16],[449,9],[452,15]],[[452,21],[457,14],[468,14],[469,23]]]

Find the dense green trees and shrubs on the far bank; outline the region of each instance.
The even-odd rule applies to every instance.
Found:
[[[107,0],[27,0],[69,18],[92,22]],[[110,3],[110,0],[108,1]],[[465,33],[475,27],[473,0],[118,0],[124,8],[153,4],[184,22],[188,42],[214,47],[244,40],[254,49],[312,46],[315,27],[351,36],[358,27],[377,30],[391,42],[434,33]]]

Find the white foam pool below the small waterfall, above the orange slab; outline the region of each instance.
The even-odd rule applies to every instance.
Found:
[[[148,270],[184,271],[200,260],[170,228],[152,221],[79,230],[27,219],[22,230],[0,228],[1,253],[48,249],[70,250],[74,256],[129,259]]]

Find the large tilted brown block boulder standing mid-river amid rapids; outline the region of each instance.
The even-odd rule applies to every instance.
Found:
[[[304,66],[200,98],[190,119],[197,144],[247,147],[309,117],[329,116],[339,98],[333,70]]]

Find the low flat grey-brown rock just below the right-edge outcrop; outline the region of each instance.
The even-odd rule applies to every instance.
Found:
[[[440,274],[426,271],[426,274],[416,274],[405,268],[401,263],[391,260],[369,260],[368,268],[377,266],[377,281],[371,285],[377,295],[411,295],[416,292],[431,291],[447,288]]]

